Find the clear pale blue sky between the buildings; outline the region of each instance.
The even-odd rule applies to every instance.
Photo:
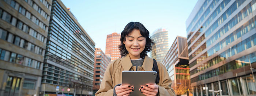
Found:
[[[177,35],[187,37],[185,21],[197,0],[61,0],[105,53],[106,36],[121,33],[129,22],[142,23],[150,34],[166,28],[169,47]]]

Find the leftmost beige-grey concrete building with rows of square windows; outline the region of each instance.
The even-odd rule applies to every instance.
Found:
[[[51,0],[0,0],[0,96],[38,96]]]

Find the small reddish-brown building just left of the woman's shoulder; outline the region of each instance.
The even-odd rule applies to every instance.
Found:
[[[99,85],[103,79],[105,70],[110,63],[110,58],[100,49],[95,48],[94,52],[94,76],[93,76],[93,94],[99,90]]]

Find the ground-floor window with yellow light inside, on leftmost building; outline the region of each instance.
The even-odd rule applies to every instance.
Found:
[[[18,96],[21,78],[8,76],[4,96]]]

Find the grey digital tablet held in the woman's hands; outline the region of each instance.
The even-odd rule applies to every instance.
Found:
[[[134,86],[134,92],[131,92],[129,96],[145,96],[139,91],[140,86],[154,85],[156,76],[155,71],[123,71],[122,84]]]

